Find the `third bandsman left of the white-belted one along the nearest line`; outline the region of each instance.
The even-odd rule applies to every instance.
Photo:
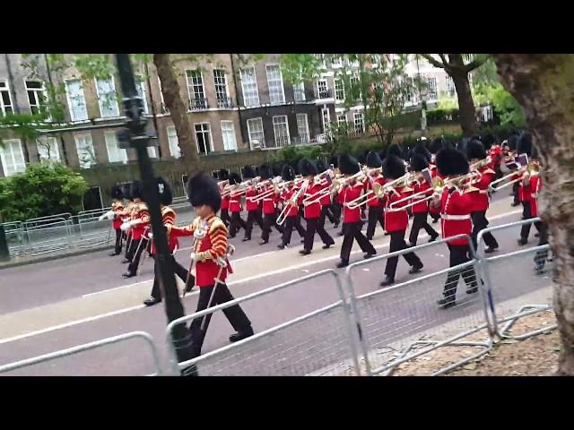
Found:
[[[307,177],[308,186],[303,194],[303,200],[310,198],[313,195],[317,195],[324,185],[315,180],[315,175],[317,175],[317,166],[310,159],[300,159],[299,171],[301,176]],[[317,200],[317,199],[314,199]],[[307,220],[307,229],[305,231],[305,241],[303,244],[303,249],[300,250],[299,254],[309,255],[313,249],[313,241],[315,239],[315,232],[321,237],[323,241],[323,249],[329,248],[331,245],[335,245],[335,240],[333,237],[329,236],[324,227],[321,227],[319,223],[319,218],[321,217],[321,203],[311,202],[309,204],[303,203],[303,215]]]

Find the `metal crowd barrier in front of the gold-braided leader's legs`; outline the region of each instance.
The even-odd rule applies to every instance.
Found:
[[[178,363],[172,343],[172,330],[176,325],[207,314],[219,314],[219,311],[232,305],[243,304],[242,306],[245,306],[254,299],[278,293],[281,290],[292,293],[291,289],[296,286],[302,286],[305,289],[296,297],[290,297],[291,300],[305,300],[309,286],[304,283],[323,276],[329,276],[335,280],[333,294],[339,297],[335,303],[296,318],[287,318],[289,321],[260,331],[245,340]],[[274,295],[275,299],[276,296]],[[285,303],[286,297],[283,297],[281,301]],[[246,313],[249,314],[248,310]],[[252,323],[257,330],[257,321],[252,321]],[[209,331],[207,337],[209,337]],[[357,362],[357,331],[352,324],[351,313],[348,312],[343,285],[333,270],[317,271],[300,279],[290,280],[222,305],[210,307],[196,314],[186,315],[168,325],[166,340],[171,353],[171,366],[173,372],[177,374],[180,369],[191,365],[196,366],[200,375],[306,375],[345,372],[360,374]]]

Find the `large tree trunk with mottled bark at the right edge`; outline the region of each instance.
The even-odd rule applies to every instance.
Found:
[[[544,162],[541,217],[556,262],[554,312],[562,344],[557,374],[574,375],[574,56],[492,56],[502,84],[524,107]]]

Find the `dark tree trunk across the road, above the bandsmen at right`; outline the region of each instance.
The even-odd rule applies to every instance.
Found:
[[[465,63],[462,54],[448,54],[451,67],[450,77],[455,84],[458,99],[458,118],[463,134],[471,137],[476,132],[476,116],[474,112],[473,93],[468,82],[468,73],[465,70]]]

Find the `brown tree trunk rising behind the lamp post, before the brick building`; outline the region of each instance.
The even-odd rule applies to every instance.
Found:
[[[171,120],[178,133],[178,144],[181,155],[192,166],[199,164],[196,143],[191,123],[187,118],[187,107],[179,92],[179,84],[176,73],[171,65],[170,54],[153,54],[153,64],[158,71],[161,81],[161,93],[166,106],[170,109]]]

